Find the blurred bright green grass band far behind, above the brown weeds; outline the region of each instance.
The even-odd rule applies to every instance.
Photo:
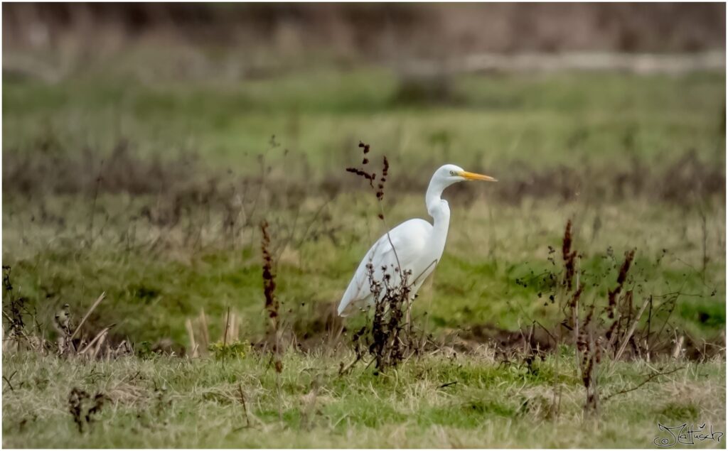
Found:
[[[347,161],[341,153],[353,157],[359,139],[402,158],[485,167],[617,164],[625,153],[671,161],[689,148],[725,161],[724,73],[461,76],[452,84],[453,104],[401,105],[392,100],[396,77],[377,68],[240,83],[94,73],[54,85],[6,81],[4,148],[28,148],[39,132],[71,148],[108,149],[123,136],[145,153],[192,148],[213,164],[244,170],[245,157],[264,153],[276,135],[304,153],[317,175],[340,170]]]

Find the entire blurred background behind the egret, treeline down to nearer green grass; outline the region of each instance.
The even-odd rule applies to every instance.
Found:
[[[501,180],[448,191],[424,327],[557,317],[538,276],[572,218],[593,298],[636,247],[668,330],[724,343],[724,4],[2,8],[3,264],[39,324],[105,291],[86,327],[117,340],[181,350],[228,306],[253,337],[267,220],[314,343],[383,231],[345,171],[362,140],[390,226],[426,215],[440,164]]]

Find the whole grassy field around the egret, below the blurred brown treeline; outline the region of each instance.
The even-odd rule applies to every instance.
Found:
[[[658,422],[725,431],[724,72],[421,80],[361,64],[240,82],[129,67],[4,76],[4,311],[21,302],[28,335],[55,343],[63,305],[79,324],[105,292],[80,338],[113,324],[107,343],[132,347],[91,361],[5,351],[4,446],[652,447]],[[366,319],[333,312],[385,231],[345,170],[360,141],[376,169],[389,159],[389,227],[426,217],[440,164],[499,183],[446,191],[445,255],[413,310],[427,352],[339,375]],[[262,220],[291,343],[279,376]],[[550,282],[567,220],[584,306],[606,303],[630,250],[629,311],[652,300],[644,346],[600,365],[595,418],[574,343],[547,336],[569,335]],[[210,344],[244,351],[197,357],[201,311]],[[526,340],[529,327],[543,333]],[[641,385],[655,372],[670,373]],[[82,434],[74,387],[105,400]]]

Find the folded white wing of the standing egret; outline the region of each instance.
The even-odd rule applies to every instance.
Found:
[[[361,301],[370,301],[372,293],[370,289],[370,281],[367,271],[367,265],[371,262],[373,266],[374,276],[376,280],[381,280],[384,271],[382,267],[396,268],[397,260],[403,268],[411,267],[411,264],[421,255],[422,250],[427,244],[427,236],[432,229],[432,225],[426,220],[412,219],[397,225],[384,234],[369,249],[364,256],[359,267],[349,282],[349,287],[344,292],[344,296],[339,303],[339,315],[346,316],[345,311],[350,306],[356,306]],[[396,252],[395,252],[396,251]],[[387,273],[392,274],[392,270]],[[392,274],[395,276],[395,274]],[[396,282],[396,281],[395,281]]]

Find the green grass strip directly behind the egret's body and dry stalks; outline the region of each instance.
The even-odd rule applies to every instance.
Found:
[[[401,209],[392,209],[390,223],[397,223],[400,217],[422,215],[419,202],[415,196],[403,199]],[[446,253],[415,305],[416,318],[424,327],[443,332],[489,323],[515,330],[534,319],[547,324],[560,321],[558,306],[547,302],[554,289],[542,282],[543,276],[538,277],[548,271],[561,271],[558,252],[565,220],[558,207],[542,202],[537,209],[494,209],[486,201],[476,201],[470,209],[453,201],[451,207]],[[314,315],[317,303],[337,303],[361,255],[382,230],[376,217],[357,223],[348,208],[349,203],[341,199],[331,204],[329,211],[333,217],[331,227],[342,230],[339,242],[351,241],[350,246],[336,246],[322,238],[303,242],[300,247],[293,244],[280,253],[277,292],[285,310],[291,309],[289,317],[306,319]],[[711,260],[703,279],[700,220],[677,211],[674,215],[664,211],[654,215],[655,209],[662,207],[625,202],[615,212],[577,213],[581,228],[576,246],[583,254],[585,299],[606,302],[607,290],[616,285],[623,253],[636,248],[636,265],[629,282],[638,294],[636,302],[641,304],[648,295],[681,292],[684,295],[677,298],[673,324],[698,340],[713,340],[725,324],[721,255],[717,250],[708,251]],[[211,241],[203,250],[190,250],[174,236],[168,237],[168,250],[150,251],[149,245],[125,250],[122,244],[111,244],[119,242],[127,231],[125,225],[107,225],[91,247],[80,245],[86,236],[83,232],[75,245],[74,233],[52,234],[47,241],[22,244],[23,236],[39,237],[32,229],[19,227],[20,222],[27,221],[28,213],[19,213],[14,219],[18,223],[5,225],[8,244],[4,264],[12,266],[12,282],[18,294],[36,303],[41,322],[50,322],[66,302],[80,317],[100,292],[106,292],[108,300],[91,321],[94,327],[116,323],[114,334],[120,338],[155,341],[166,337],[186,345],[186,318],[197,316],[204,308],[216,318],[210,327],[217,335],[221,333],[217,319],[227,306],[241,314],[245,330],[262,332],[265,323],[260,257],[245,244],[224,249],[227,244],[213,225],[206,229]],[[604,220],[596,238],[590,239],[595,215],[609,215],[609,219]],[[673,228],[665,227],[666,223]],[[708,225],[711,242],[720,239],[724,233],[721,218],[711,219]],[[681,227],[687,228],[686,236],[676,233]],[[302,222],[296,236],[301,236],[305,228]],[[159,231],[154,227],[145,231],[140,224],[137,233],[138,240],[146,243],[146,233],[155,236]],[[245,237],[254,243],[253,249],[257,247],[257,236]],[[558,266],[547,260],[548,246],[558,250]],[[609,247],[612,257],[607,253]],[[16,257],[23,255],[23,250],[27,256]],[[659,306],[666,300],[657,298],[655,302]]]

